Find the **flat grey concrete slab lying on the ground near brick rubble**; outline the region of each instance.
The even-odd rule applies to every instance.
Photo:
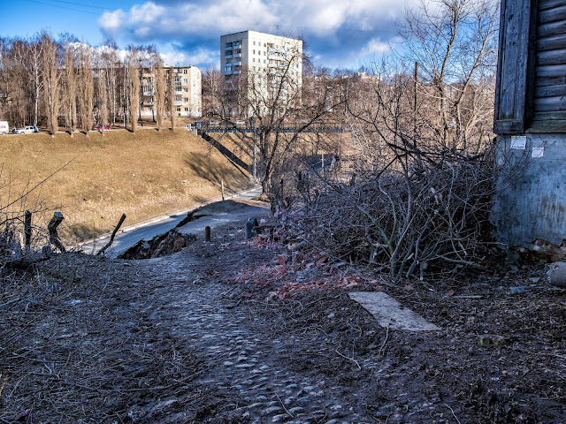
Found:
[[[426,321],[421,315],[402,307],[397,300],[386,293],[350,292],[348,296],[372,314],[381,327],[408,331],[440,330],[440,327]]]

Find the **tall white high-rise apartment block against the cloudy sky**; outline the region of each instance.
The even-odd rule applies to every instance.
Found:
[[[247,85],[249,102],[267,103],[275,95],[279,101],[300,101],[302,40],[257,31],[222,35],[220,69],[228,89]],[[233,107],[230,113],[258,113],[247,109]]]

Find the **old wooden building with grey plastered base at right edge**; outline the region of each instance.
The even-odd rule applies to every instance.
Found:
[[[491,220],[499,239],[510,246],[541,240],[562,246],[566,0],[501,1],[494,113],[501,172]]]

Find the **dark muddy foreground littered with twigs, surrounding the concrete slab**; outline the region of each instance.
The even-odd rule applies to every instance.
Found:
[[[243,229],[4,268],[0,422],[566,422],[566,291],[545,265],[392,282]],[[376,290],[441,330],[381,328],[348,298]]]

